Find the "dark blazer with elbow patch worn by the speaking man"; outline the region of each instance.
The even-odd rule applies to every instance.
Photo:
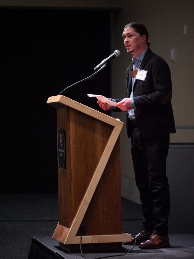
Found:
[[[150,48],[140,64],[140,69],[148,70],[145,81],[135,81],[133,87],[133,100],[136,107],[135,118],[138,129],[145,139],[167,133],[175,133],[175,123],[171,105],[172,83],[170,69],[165,60],[154,54]],[[132,63],[126,70],[126,97],[131,92]],[[115,99],[120,102],[122,99]],[[121,111],[116,108],[113,111]],[[127,133],[130,138],[132,124],[126,118]]]

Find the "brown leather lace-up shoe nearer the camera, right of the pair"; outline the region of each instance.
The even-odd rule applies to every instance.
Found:
[[[159,236],[152,233],[150,238],[143,243],[140,243],[139,248],[142,249],[157,249],[162,247],[170,247],[168,236]]]

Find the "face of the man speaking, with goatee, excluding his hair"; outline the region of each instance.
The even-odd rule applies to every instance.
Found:
[[[127,27],[123,31],[124,45],[127,49],[127,53],[133,54],[138,53],[139,50],[144,46],[143,39],[145,35],[140,36],[138,32],[132,27]]]

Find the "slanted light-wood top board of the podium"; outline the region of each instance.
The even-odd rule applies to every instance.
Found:
[[[47,104],[54,106],[56,108],[63,107],[64,105],[69,106],[75,110],[78,110],[80,112],[83,112],[91,117],[94,117],[98,120],[101,120],[107,124],[110,124],[114,127],[116,126],[123,126],[123,122],[119,121],[117,119],[114,119],[113,117],[110,117],[102,112],[96,111],[84,104],[78,103],[66,96],[63,95],[56,95],[56,96],[51,96],[47,100]]]

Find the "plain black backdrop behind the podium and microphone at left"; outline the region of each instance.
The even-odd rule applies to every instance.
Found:
[[[57,192],[56,109],[46,102],[111,54],[110,12],[4,8],[1,24],[2,86],[9,95],[1,192]],[[109,85],[107,66],[63,95],[100,110],[86,95],[109,96]]]

